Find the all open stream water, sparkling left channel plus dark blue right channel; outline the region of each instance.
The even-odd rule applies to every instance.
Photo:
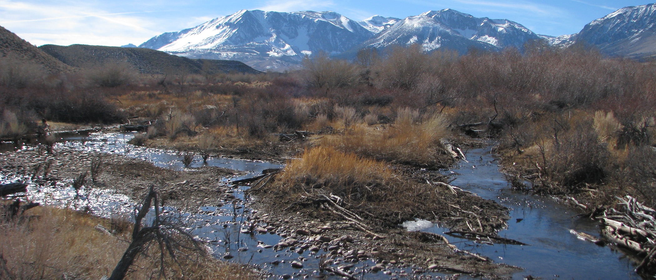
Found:
[[[191,168],[182,165],[182,155],[171,150],[158,150],[146,147],[136,147],[127,144],[133,138],[133,133],[61,133],[60,143],[76,149],[90,152],[108,152],[123,154],[125,156],[140,158],[155,164],[155,166],[176,170],[193,171],[194,167],[203,165],[197,157]],[[13,146],[11,146],[13,147]],[[25,148],[33,149],[33,148]],[[0,145],[0,150],[8,150],[7,145]],[[558,203],[552,198],[533,196],[523,192],[510,190],[504,175],[499,171],[497,158],[491,153],[491,147],[468,150],[469,162],[461,161],[457,166],[444,170],[444,174],[453,176],[451,184],[459,186],[478,194],[482,198],[494,200],[511,209],[508,228],[501,230],[499,236],[516,239],[530,245],[485,245],[467,239],[452,237],[443,232],[439,224],[428,221],[409,222],[406,226],[413,230],[443,234],[449,241],[459,248],[480,253],[492,258],[495,262],[503,262],[513,266],[520,266],[525,270],[512,275],[513,279],[524,279],[527,275],[541,277],[542,279],[641,279],[633,272],[632,261],[627,257],[630,253],[619,251],[617,247],[602,247],[578,239],[569,232],[570,229],[599,236],[598,222],[591,219],[575,217],[581,212],[578,209]],[[223,179],[229,181],[252,177],[263,169],[281,168],[279,164],[258,162],[252,160],[235,160],[230,158],[210,158],[209,166],[226,167],[239,171],[249,171],[251,175]],[[12,182],[17,178],[7,177],[0,173],[0,181]],[[29,182],[28,182],[29,183]],[[58,183],[61,188],[45,188],[30,184],[28,196],[31,200],[75,207],[75,191],[70,183]],[[248,186],[238,186],[234,190],[239,203],[226,203],[223,207],[206,206],[196,214],[181,213],[176,209],[168,208],[167,212],[181,217],[199,239],[207,241],[211,253],[218,258],[226,258],[243,264],[255,264],[272,273],[272,278],[293,277],[302,279],[312,277],[319,267],[319,255],[310,251],[297,253],[294,248],[274,251],[268,245],[276,245],[282,238],[278,234],[243,234],[241,230],[249,222],[249,217],[262,215],[250,209],[251,198],[245,195]],[[126,196],[113,194],[110,190],[91,190],[83,196],[96,215],[112,217],[116,213],[131,213],[136,203]],[[266,226],[259,224],[259,226]],[[303,247],[303,240],[297,247]],[[304,269],[291,268],[290,262],[300,260]],[[403,268],[392,271],[392,275],[383,273],[361,274],[367,266],[375,262],[369,260],[359,262],[352,268],[352,273],[362,279],[390,279],[396,276],[402,279],[407,276]],[[334,264],[333,266],[337,266]],[[408,268],[409,270],[409,268]],[[443,273],[424,273],[426,279],[441,279]],[[328,279],[340,279],[333,276]],[[464,275],[461,279],[470,279]]]

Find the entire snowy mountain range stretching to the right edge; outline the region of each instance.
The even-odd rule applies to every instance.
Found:
[[[425,51],[449,48],[522,50],[530,41],[567,48],[586,42],[608,56],[656,54],[656,4],[619,9],[587,24],[579,33],[539,35],[507,19],[476,18],[453,9],[417,16],[372,16],[360,22],[337,12],[240,10],[199,26],[157,35],[140,44],[189,58],[239,60],[256,69],[293,69],[304,56],[325,52],[352,58],[361,48],[421,44]]]

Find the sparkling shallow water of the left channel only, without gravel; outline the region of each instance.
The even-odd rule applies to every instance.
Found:
[[[191,168],[186,168],[182,164],[182,154],[178,154],[171,150],[150,149],[145,147],[136,147],[129,145],[127,142],[134,137],[133,133],[99,133],[93,131],[81,133],[62,133],[58,135],[58,143],[56,145],[73,147],[80,150],[88,150],[93,152],[108,152],[112,154],[122,154],[133,158],[140,158],[152,162],[155,166],[165,167],[176,170],[193,171],[194,167],[203,166],[202,159],[197,156],[192,163]],[[39,142],[33,142],[32,145]],[[13,144],[5,144],[5,150],[13,150]],[[35,149],[34,146],[26,146],[24,149]],[[20,152],[20,151],[19,151]],[[263,169],[268,168],[281,168],[284,167],[280,164],[272,164],[269,162],[258,162],[253,160],[235,160],[230,158],[210,158],[207,161],[208,166],[226,167],[236,169],[239,171],[249,171],[251,174],[241,177],[225,178],[223,181],[232,181],[235,179],[244,179],[253,177],[260,174]],[[129,200],[127,196],[115,194],[111,190],[87,190],[83,188],[79,196],[75,193],[71,186],[71,182],[64,181],[57,183],[57,186],[43,187],[31,184],[29,177],[7,177],[0,173],[1,182],[14,182],[26,181],[30,183],[28,187],[28,196],[31,201],[40,202],[49,205],[58,205],[60,207],[69,207],[72,209],[87,209],[96,215],[102,217],[112,217],[116,215],[130,215],[133,213],[135,207],[138,205],[135,201]],[[308,278],[316,275],[319,268],[320,254],[326,252],[319,251],[318,254],[310,251],[297,253],[290,248],[274,251],[274,249],[264,249],[265,245],[276,245],[284,238],[277,234],[243,234],[241,230],[249,225],[249,219],[255,213],[249,207],[252,201],[249,196],[245,195],[244,190],[248,186],[238,186],[233,192],[236,196],[236,203],[225,201],[222,207],[205,206],[199,209],[199,213],[184,213],[176,209],[167,207],[165,210],[168,215],[179,217],[184,224],[188,226],[188,230],[192,232],[197,238],[207,241],[208,247],[218,258],[224,258],[226,254],[230,254],[232,258],[230,261],[240,262],[243,264],[254,264],[269,271],[273,274],[272,278],[276,279],[280,275],[289,274],[293,279]],[[258,226],[266,226],[266,224],[258,224]],[[302,242],[302,240],[299,240]],[[271,262],[277,260],[279,264],[274,265]],[[290,263],[294,260],[302,260],[304,268],[298,270],[292,268]],[[336,263],[333,267],[337,268]],[[342,261],[341,264],[344,264]],[[365,273],[362,274],[364,268],[375,265],[375,262],[361,261],[354,264],[350,273],[354,273],[362,279],[390,279],[390,275],[385,275],[382,272],[378,273]],[[394,273],[401,273],[403,268],[394,270]],[[411,273],[411,269],[405,268]],[[434,276],[433,279],[440,279],[439,277],[448,275],[444,273],[423,273],[423,279],[428,279],[429,276]],[[405,277],[405,279],[414,279],[415,275]],[[326,279],[341,279],[341,277],[332,276]],[[461,279],[468,279],[464,277]]]

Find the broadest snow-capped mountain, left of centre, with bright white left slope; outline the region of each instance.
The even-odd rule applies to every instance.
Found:
[[[243,61],[256,69],[297,65],[303,56],[337,54],[372,31],[337,12],[241,10],[180,32],[156,36],[140,47],[189,58]]]

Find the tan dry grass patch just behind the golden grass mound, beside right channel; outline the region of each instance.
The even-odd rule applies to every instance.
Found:
[[[353,126],[344,135],[327,135],[321,145],[335,147],[359,156],[388,160],[417,166],[443,166],[438,141],[451,135],[443,114],[436,114],[424,122],[415,122],[416,111],[402,111],[393,126]]]

